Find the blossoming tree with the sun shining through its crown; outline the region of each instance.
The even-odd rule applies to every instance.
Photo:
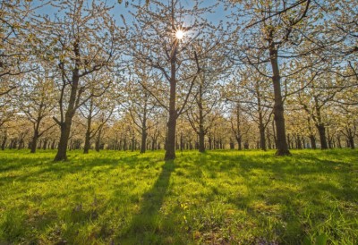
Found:
[[[198,55],[191,44],[209,26],[200,15],[209,12],[210,8],[202,8],[199,1],[194,1],[185,9],[178,0],[170,0],[167,4],[153,0],[149,5],[133,4],[133,7],[137,13],[134,14],[129,54],[136,61],[155,68],[169,84],[166,91],[168,104],[160,100],[158,104],[169,114],[165,159],[175,159],[176,121],[183,114],[200,72]],[[185,23],[184,20],[192,22]],[[189,31],[199,34],[191,36]]]

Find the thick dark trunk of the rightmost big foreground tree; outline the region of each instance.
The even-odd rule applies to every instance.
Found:
[[[286,141],[286,126],[285,126],[285,117],[284,117],[284,101],[281,95],[281,78],[278,69],[277,61],[277,49],[274,46],[274,43],[271,42],[269,49],[269,58],[272,66],[272,82],[274,85],[274,94],[275,94],[275,103],[274,103],[274,120],[276,124],[276,134],[277,134],[277,156],[286,156],[290,155],[288,150],[288,145]]]

